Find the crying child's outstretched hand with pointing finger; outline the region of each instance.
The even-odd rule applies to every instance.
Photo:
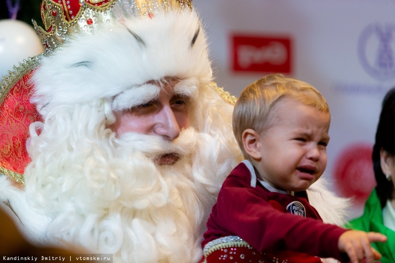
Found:
[[[380,233],[349,230],[340,235],[338,247],[341,252],[347,253],[351,263],[373,263],[373,260],[381,258],[381,254],[370,244],[385,241],[387,237]]]

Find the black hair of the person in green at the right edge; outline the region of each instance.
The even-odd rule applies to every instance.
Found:
[[[376,139],[373,146],[373,170],[376,179],[376,193],[383,208],[388,199],[392,198],[393,184],[388,182],[380,165],[380,150],[383,149],[390,156],[395,156],[395,87],[385,95],[379,123],[376,130]]]

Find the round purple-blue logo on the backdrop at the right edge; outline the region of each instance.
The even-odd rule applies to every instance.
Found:
[[[395,24],[370,24],[361,33],[358,55],[362,67],[380,81],[395,78]]]

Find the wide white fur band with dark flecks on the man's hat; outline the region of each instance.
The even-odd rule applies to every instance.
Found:
[[[51,107],[111,99],[135,85],[169,76],[194,78],[200,84],[212,79],[206,36],[195,12],[130,19],[89,37],[74,36],[42,58],[32,77],[31,101],[45,115]]]

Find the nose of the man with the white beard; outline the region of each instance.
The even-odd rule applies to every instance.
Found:
[[[154,133],[167,140],[174,140],[180,135],[180,125],[170,106],[165,106],[157,114]]]

